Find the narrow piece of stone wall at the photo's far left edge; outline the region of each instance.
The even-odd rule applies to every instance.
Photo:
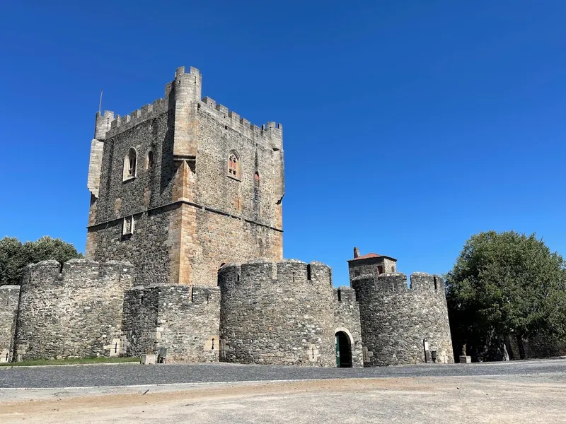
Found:
[[[0,285],[0,363],[12,358],[19,299],[19,285]]]

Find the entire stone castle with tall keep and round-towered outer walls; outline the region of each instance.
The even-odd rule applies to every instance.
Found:
[[[96,114],[86,259],[0,287],[0,360],[156,353],[168,362],[362,367],[452,363],[444,282],[396,259],[283,260],[282,126],[201,98]]]

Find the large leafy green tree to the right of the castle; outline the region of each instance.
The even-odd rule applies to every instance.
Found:
[[[476,359],[498,359],[513,336],[524,358],[525,338],[564,338],[565,275],[564,259],[534,234],[473,235],[446,274],[455,353],[466,343]]]

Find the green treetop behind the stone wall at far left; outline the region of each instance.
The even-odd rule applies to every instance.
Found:
[[[0,240],[0,285],[20,284],[22,271],[28,264],[55,259],[66,262],[82,254],[70,243],[49,236],[22,244],[16,237]]]

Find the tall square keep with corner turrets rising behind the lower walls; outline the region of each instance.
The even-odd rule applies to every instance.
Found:
[[[250,124],[177,69],[165,97],[96,114],[86,257],[130,261],[137,284],[216,285],[221,264],[282,259],[282,126]]]

